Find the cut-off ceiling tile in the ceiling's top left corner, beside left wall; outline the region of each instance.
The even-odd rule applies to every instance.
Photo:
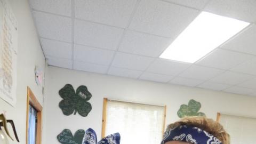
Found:
[[[34,10],[71,17],[71,0],[29,0]]]

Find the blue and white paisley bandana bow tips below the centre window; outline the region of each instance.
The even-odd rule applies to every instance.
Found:
[[[100,140],[98,144],[120,144],[120,139],[120,134],[114,133]],[[93,129],[85,131],[83,144],[97,144],[97,135]]]

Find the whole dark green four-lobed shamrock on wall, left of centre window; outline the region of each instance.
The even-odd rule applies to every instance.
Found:
[[[63,99],[59,103],[62,113],[69,116],[78,112],[81,116],[87,116],[92,110],[91,103],[87,102],[91,99],[92,94],[84,85],[79,86],[76,92],[71,84],[66,84],[60,91],[60,97]]]

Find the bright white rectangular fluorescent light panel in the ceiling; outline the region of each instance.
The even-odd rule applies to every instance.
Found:
[[[201,12],[160,58],[194,63],[248,25],[248,22]]]

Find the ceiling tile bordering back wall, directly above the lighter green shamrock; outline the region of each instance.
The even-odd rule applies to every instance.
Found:
[[[172,79],[172,81],[170,83],[175,84],[175,85],[184,85],[184,86],[193,86],[194,87],[203,82],[204,81],[197,80],[197,79],[175,77],[174,79]]]

